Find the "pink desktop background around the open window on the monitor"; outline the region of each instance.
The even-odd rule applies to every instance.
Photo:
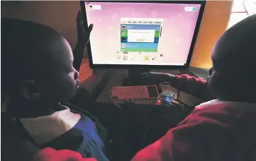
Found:
[[[130,64],[116,60],[116,50],[120,48],[121,18],[164,18],[162,36],[157,56],[161,61],[135,60],[135,64],[172,65],[185,64],[199,16],[200,4],[135,4],[90,2],[101,5],[101,10],[89,10],[86,3],[88,24],[93,23],[91,32],[91,53],[94,64]],[[194,12],[184,11],[185,6],[196,6]],[[152,53],[151,53],[152,54]],[[151,55],[149,55],[151,56]]]

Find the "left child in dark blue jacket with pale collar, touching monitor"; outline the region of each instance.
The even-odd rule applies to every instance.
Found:
[[[90,25],[84,30],[81,22],[74,54],[82,54],[92,29]],[[82,157],[108,160],[104,154],[104,126],[88,112],[60,103],[71,100],[79,88],[79,73],[73,67],[77,60],[67,40],[45,25],[8,18],[1,19],[1,34],[1,93],[8,97],[1,107],[4,138],[30,141],[40,149],[68,149]],[[4,142],[4,146],[13,150],[16,143],[12,143]],[[2,158],[15,157],[21,160],[24,156],[5,153]]]

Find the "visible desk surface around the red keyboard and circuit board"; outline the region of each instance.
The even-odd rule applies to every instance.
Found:
[[[167,71],[167,70],[161,70],[160,72],[162,73],[172,73],[172,74],[182,74],[182,73],[186,73],[189,74],[191,76],[193,76],[193,73],[189,72],[189,71]],[[110,93],[111,93],[111,88],[113,86],[120,86],[123,83],[123,78],[126,78],[128,76],[128,71],[123,69],[123,70],[113,70],[111,71],[112,76],[109,79],[108,83],[106,83],[105,88],[101,91],[101,94],[99,95],[99,97],[96,99],[97,103],[111,103],[113,102],[113,100],[110,97]],[[162,90],[173,90],[173,91],[177,91],[175,88],[172,88],[170,85],[162,85],[160,84],[160,88],[162,88]],[[187,93],[180,93],[181,98],[182,98],[182,102],[186,103],[189,106],[196,106],[199,105],[202,101],[199,100],[198,98],[189,95]],[[123,101],[118,102],[122,103]],[[135,100],[136,104],[143,104],[143,105],[152,105],[155,104],[156,100]]]

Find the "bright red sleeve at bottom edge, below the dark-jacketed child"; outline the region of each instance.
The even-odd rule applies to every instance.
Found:
[[[95,159],[82,158],[77,152],[72,150],[54,150],[52,148],[45,148],[35,154],[32,161],[96,161]]]

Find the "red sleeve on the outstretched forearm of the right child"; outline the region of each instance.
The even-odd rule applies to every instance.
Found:
[[[207,81],[187,74],[177,75],[177,80],[172,84],[174,88],[189,93],[199,99],[208,101],[215,99],[208,89]]]

